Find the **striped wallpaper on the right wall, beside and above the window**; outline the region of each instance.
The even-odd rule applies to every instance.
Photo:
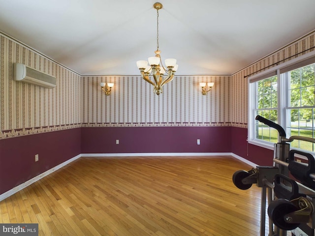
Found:
[[[231,76],[230,79],[230,121],[234,124],[246,124],[248,122],[248,78],[244,78],[249,74],[255,73],[265,67],[266,69],[272,68],[272,64],[281,61],[283,59],[289,58],[290,59],[298,58],[306,53],[312,52],[315,49],[311,49],[314,47],[315,44],[315,32],[311,33],[310,35],[284,47],[283,49],[278,50],[277,52],[261,59],[252,65],[248,66],[247,68],[235,73]],[[304,52],[308,50],[307,52]],[[304,53],[302,53],[304,52]],[[299,54],[301,53],[301,54]],[[294,56],[299,54],[298,56]],[[284,63],[290,59],[284,60],[281,63]],[[279,64],[281,64],[279,63]],[[276,66],[273,65],[273,66]],[[263,70],[262,70],[263,71]]]

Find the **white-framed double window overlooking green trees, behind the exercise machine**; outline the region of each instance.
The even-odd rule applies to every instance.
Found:
[[[249,143],[272,149],[278,131],[256,115],[280,124],[286,137],[315,138],[315,57],[286,64],[249,79]],[[293,148],[315,152],[315,144],[294,140]]]

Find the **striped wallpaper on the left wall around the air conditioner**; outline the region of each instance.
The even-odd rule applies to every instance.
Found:
[[[14,81],[13,62],[57,78],[45,89]],[[80,127],[81,76],[0,34],[0,138]]]

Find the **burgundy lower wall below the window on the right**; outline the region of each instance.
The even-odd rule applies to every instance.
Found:
[[[272,166],[273,150],[248,144],[247,130],[247,128],[231,127],[231,152],[257,165]]]

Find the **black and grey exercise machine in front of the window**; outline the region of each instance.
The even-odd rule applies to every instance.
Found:
[[[237,171],[232,180],[239,189],[249,189],[252,184],[261,188],[260,236],[265,236],[267,197],[269,236],[286,236],[287,231],[298,227],[306,229],[307,236],[315,236],[315,159],[311,153],[290,150],[294,140],[315,143],[315,139],[303,136],[287,139],[279,124],[261,116],[255,119],[279,133],[273,166]]]

